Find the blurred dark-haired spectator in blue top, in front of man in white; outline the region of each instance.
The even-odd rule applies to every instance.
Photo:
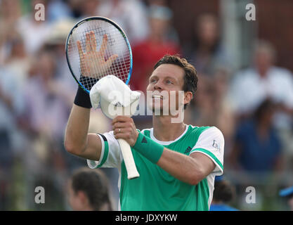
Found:
[[[247,174],[241,177],[242,181],[247,179],[250,184],[256,184],[282,169],[282,146],[272,126],[275,110],[275,103],[267,99],[252,118],[238,124],[230,163],[233,169]]]

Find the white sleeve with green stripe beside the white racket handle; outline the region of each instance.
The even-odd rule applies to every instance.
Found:
[[[119,168],[122,162],[122,153],[119,143],[113,134],[113,131],[98,134],[102,142],[102,150],[100,153],[100,160],[86,160],[91,169],[99,167],[115,167]]]

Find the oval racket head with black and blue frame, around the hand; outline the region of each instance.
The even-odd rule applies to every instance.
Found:
[[[98,71],[100,63],[93,61],[93,68],[98,71],[98,74],[82,75],[81,63],[84,58],[80,56],[77,41],[80,41],[82,51],[86,53],[86,33],[90,32],[93,32],[96,38],[96,51],[99,51],[103,45],[104,35],[107,35],[108,41],[105,55],[103,56],[105,61],[115,54],[117,54],[117,58],[110,68],[103,72]],[[115,75],[126,84],[129,84],[133,65],[131,46],[125,32],[114,21],[101,16],[79,20],[67,36],[65,52],[67,64],[73,78],[87,93],[91,91],[91,87],[96,84],[98,79],[107,75]],[[84,77],[90,77],[90,79],[84,79]]]

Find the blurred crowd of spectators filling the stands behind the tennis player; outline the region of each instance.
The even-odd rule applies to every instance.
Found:
[[[44,4],[45,20],[34,17]],[[190,43],[180,40],[174,12],[164,0],[0,0],[0,210],[70,210],[67,179],[86,160],[67,153],[63,138],[77,91],[65,57],[74,23],[93,15],[117,22],[134,56],[133,90],[145,91],[152,68],[164,54],[178,53],[195,65],[199,84],[185,110],[185,123],[216,126],[225,137],[224,174],[235,186],[240,210],[286,210],[278,195],[293,184],[293,75],[275,65],[278,51],[255,40],[251,65],[235,68],[221,43],[220,19],[197,16]],[[138,129],[150,117],[134,118]],[[99,110],[90,131],[111,129]],[[117,170],[109,178],[117,210]],[[34,203],[44,186],[46,204]],[[245,203],[245,188],[256,202]]]

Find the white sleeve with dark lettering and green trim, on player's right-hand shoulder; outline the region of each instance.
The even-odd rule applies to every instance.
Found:
[[[216,127],[211,127],[200,134],[190,154],[197,152],[207,155],[216,165],[213,173],[219,176],[223,174],[224,144],[222,132]]]

